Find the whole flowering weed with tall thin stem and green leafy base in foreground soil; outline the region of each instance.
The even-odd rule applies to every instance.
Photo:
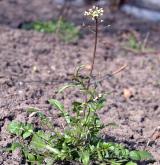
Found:
[[[95,42],[89,76],[82,76],[81,69],[76,69],[72,82],[63,86],[77,88],[85,97],[81,101],[73,101],[70,111],[56,100],[49,103],[56,108],[65,119],[62,129],[54,127],[52,120],[41,111],[30,108],[30,117],[40,119],[40,124],[12,121],[8,125],[11,134],[17,141],[8,148],[13,152],[19,148],[28,164],[83,164],[83,165],[136,165],[137,161],[152,159],[147,151],[137,151],[125,148],[121,144],[106,142],[101,137],[105,125],[101,122],[97,111],[105,104],[105,94],[99,93],[93,85],[93,70],[98,42],[98,26],[101,22],[103,9],[93,6],[85,12],[95,25]],[[71,113],[69,113],[71,112]]]

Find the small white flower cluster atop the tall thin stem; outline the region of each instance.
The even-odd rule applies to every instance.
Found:
[[[92,9],[89,9],[88,11],[84,12],[85,16],[89,16],[92,18],[92,20],[100,18],[104,13],[103,8],[99,8],[96,6],[93,6]]]

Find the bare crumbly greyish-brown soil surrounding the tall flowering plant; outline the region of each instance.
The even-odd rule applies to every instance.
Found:
[[[72,7],[68,19],[78,26],[85,8]],[[49,20],[57,15],[51,0],[0,1],[0,147],[15,140],[7,131],[14,119],[28,121],[27,108],[36,107],[59,118],[48,104],[54,90],[66,82],[75,67],[90,63],[93,34],[82,29],[78,42],[64,44],[50,34],[19,29],[26,21]],[[116,122],[118,128],[106,128],[106,139],[131,148],[150,151],[160,164],[160,24],[142,22],[120,11],[108,12],[101,26],[95,75],[106,75],[127,66],[122,72],[102,82],[101,90],[109,92],[106,107],[99,112],[104,123]],[[110,27],[104,28],[106,25]],[[147,39],[154,52],[138,52],[126,48],[127,37]],[[67,101],[74,96],[69,96]],[[154,135],[153,135],[154,134]],[[157,134],[157,136],[155,135]],[[153,136],[152,136],[153,135]],[[148,141],[151,141],[147,145]],[[0,151],[0,164],[18,165],[18,153]],[[145,163],[144,163],[145,164]]]

